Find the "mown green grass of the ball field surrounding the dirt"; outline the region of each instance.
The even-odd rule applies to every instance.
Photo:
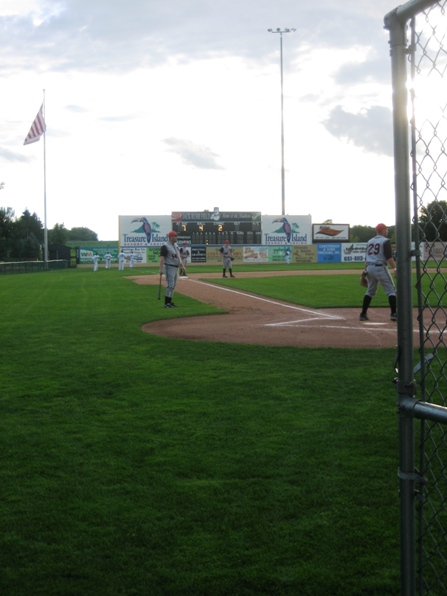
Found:
[[[148,272],[0,278],[0,593],[399,594],[394,350],[153,337],[216,310],[163,309],[126,279]],[[364,293],[233,282],[313,307]]]

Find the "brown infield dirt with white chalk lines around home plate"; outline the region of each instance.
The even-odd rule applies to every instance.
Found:
[[[283,271],[275,273],[285,274]],[[290,272],[295,275],[302,273]],[[253,276],[243,274],[243,277]],[[225,314],[155,321],[144,325],[143,331],[193,341],[271,346],[385,348],[397,344],[397,324],[389,320],[388,308],[372,307],[368,312],[370,320],[360,322],[360,306],[358,309],[314,310],[236,290],[229,284],[217,286],[201,277],[218,275],[188,274],[183,283],[177,283],[177,299],[174,298],[174,301],[179,309],[181,295],[184,294],[225,310]],[[159,278],[158,275],[141,276],[133,278],[133,281],[155,284]],[[359,305],[362,297],[360,290]],[[155,307],[161,308],[161,303]]]

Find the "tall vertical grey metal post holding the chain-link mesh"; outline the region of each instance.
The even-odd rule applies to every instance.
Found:
[[[413,416],[402,407],[414,397],[413,379],[413,304],[411,278],[410,146],[407,116],[407,43],[406,21],[398,9],[385,17],[390,32],[391,74],[393,85],[394,183],[396,204],[397,263],[397,360],[396,390],[399,412],[399,494],[401,593],[415,594],[415,454]]]

